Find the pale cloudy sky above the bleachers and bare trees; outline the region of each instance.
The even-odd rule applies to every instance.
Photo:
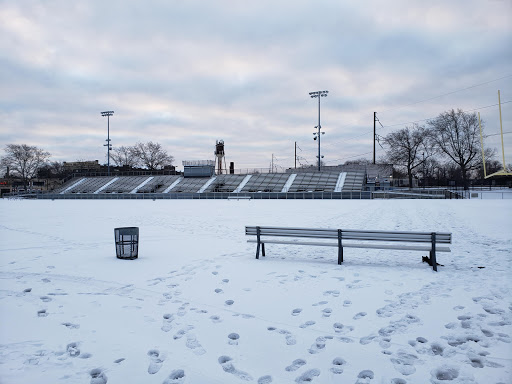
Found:
[[[0,0],[0,145],[106,162],[155,141],[236,168],[372,158],[385,136],[452,108],[486,144],[512,131],[511,0]],[[384,151],[377,146],[377,157]],[[3,153],[3,152],[2,152]],[[505,135],[512,162],[512,134]]]

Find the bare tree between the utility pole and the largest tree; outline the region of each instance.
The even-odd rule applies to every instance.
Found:
[[[409,186],[412,186],[413,173],[432,156],[428,145],[428,131],[425,127],[414,125],[391,132],[384,138],[388,147],[385,160],[407,172]]]

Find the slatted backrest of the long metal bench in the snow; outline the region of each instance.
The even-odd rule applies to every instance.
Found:
[[[245,234],[256,236],[260,230],[260,236],[276,237],[309,237],[316,239],[337,239],[338,229],[328,228],[286,228],[286,227],[256,227],[246,226]],[[367,240],[367,241],[403,241],[414,243],[432,242],[432,234],[436,235],[436,243],[451,244],[452,234],[446,232],[409,232],[409,231],[367,231],[342,229],[342,240]]]

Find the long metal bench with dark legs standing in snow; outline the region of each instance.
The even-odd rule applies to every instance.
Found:
[[[352,229],[321,229],[321,228],[283,228],[283,227],[245,227],[245,234],[256,236],[248,243],[257,243],[256,258],[265,256],[265,243],[314,245],[338,247],[338,264],[343,262],[343,248],[375,248],[396,249],[402,251],[428,251],[429,264],[437,271],[436,252],[451,252],[447,246],[451,244],[452,234],[445,232],[405,232],[405,231],[366,231]],[[306,238],[323,241],[276,240],[284,238]],[[329,241],[329,240],[335,240]],[[346,242],[348,241],[348,242]]]

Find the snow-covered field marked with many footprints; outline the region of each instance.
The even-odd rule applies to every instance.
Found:
[[[0,383],[512,383],[512,201],[0,200]],[[245,225],[452,232],[422,252]],[[114,228],[140,228],[139,259]]]

